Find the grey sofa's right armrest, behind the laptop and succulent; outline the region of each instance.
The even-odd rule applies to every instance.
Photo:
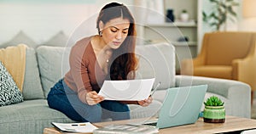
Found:
[[[176,87],[207,84],[207,92],[228,100],[229,115],[251,117],[251,87],[241,81],[232,81],[201,76],[176,75]]]

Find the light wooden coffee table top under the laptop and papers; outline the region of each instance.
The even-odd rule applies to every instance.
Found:
[[[102,127],[112,124],[125,124],[131,123],[137,120],[119,120],[111,122],[95,123],[95,126]],[[197,120],[195,124],[185,126],[175,126],[165,129],[160,129],[160,134],[170,133],[182,133],[182,134],[209,134],[209,133],[223,133],[223,132],[235,132],[240,133],[244,130],[250,130],[256,128],[256,120],[240,118],[235,116],[226,116],[224,123],[205,123],[202,118]],[[44,134],[61,134],[61,131],[55,129],[55,127],[44,128]]]

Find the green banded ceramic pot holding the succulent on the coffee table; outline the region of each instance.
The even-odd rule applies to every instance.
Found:
[[[224,123],[225,109],[224,106],[205,106],[204,122],[207,123]]]

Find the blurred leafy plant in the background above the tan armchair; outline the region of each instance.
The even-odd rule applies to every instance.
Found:
[[[219,31],[220,26],[226,26],[228,19],[232,20],[232,17],[236,17],[236,12],[234,8],[239,5],[235,0],[209,0],[215,6],[212,13],[207,14],[202,12],[203,21],[209,23],[217,31]],[[232,20],[234,21],[234,20]]]

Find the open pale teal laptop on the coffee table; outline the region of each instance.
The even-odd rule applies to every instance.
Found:
[[[199,118],[206,92],[207,85],[167,89],[158,120],[145,122],[143,125],[166,128],[195,123]]]

